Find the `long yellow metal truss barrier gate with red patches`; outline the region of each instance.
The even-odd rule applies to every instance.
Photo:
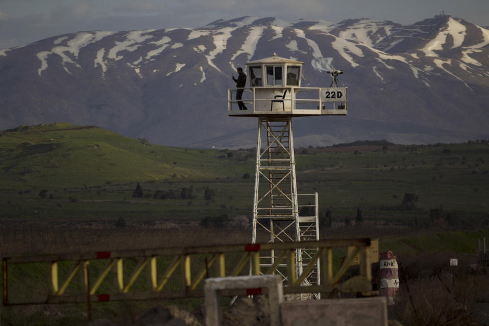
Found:
[[[333,273],[333,249],[348,246],[355,250]],[[296,275],[296,250],[313,248],[317,252],[311,263],[302,275]],[[270,251],[276,255],[275,261],[264,270],[264,267],[260,268],[260,252]],[[340,283],[351,262],[357,259],[357,254],[360,275]],[[71,267],[68,268],[70,262]],[[284,293],[334,290],[372,293],[370,239],[363,238],[4,257],[3,305],[202,297],[203,279],[248,275],[250,262],[253,275],[274,274],[279,266],[286,265]],[[21,272],[21,265],[39,263],[47,265],[48,293],[41,293],[37,298],[16,293],[11,288],[11,279],[14,279],[13,283],[20,282],[21,286],[29,282],[34,286],[39,282],[30,280],[27,277],[29,273]],[[320,284],[306,285],[307,282],[303,281],[316,264],[322,269]],[[215,268],[211,268],[213,265]],[[143,273],[144,270],[147,273]],[[77,274],[80,281],[75,281]],[[223,295],[246,295],[246,289],[223,291]]]

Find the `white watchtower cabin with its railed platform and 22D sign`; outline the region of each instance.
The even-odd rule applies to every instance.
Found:
[[[228,89],[228,115],[318,116],[346,115],[347,88],[301,87],[303,62],[273,56],[246,64],[247,83],[242,101],[248,110],[239,110],[237,88]]]

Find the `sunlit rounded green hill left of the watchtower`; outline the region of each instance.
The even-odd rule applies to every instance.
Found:
[[[4,188],[205,179],[230,172],[226,164],[216,166],[221,162],[216,159],[220,156],[217,151],[152,145],[109,130],[68,123],[3,131],[0,153]]]

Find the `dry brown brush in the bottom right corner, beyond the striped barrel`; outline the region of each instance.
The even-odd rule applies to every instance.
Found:
[[[438,257],[418,257],[421,267],[411,262],[403,268],[408,270],[404,271],[407,281],[400,270],[399,296],[396,305],[390,308],[390,319],[397,319],[404,326],[481,325],[474,317],[474,307],[489,300],[489,279],[466,264],[450,269],[448,256],[440,253]],[[416,270],[420,271],[417,276]]]

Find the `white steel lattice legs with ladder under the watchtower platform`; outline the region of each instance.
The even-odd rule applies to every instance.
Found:
[[[269,243],[301,240],[293,148],[291,116],[259,117],[252,243],[256,242],[257,228],[269,234]],[[301,255],[297,249],[296,275],[302,274]],[[260,257],[260,264],[268,267],[275,259],[270,251],[269,256]],[[280,269],[277,273],[285,279]]]

